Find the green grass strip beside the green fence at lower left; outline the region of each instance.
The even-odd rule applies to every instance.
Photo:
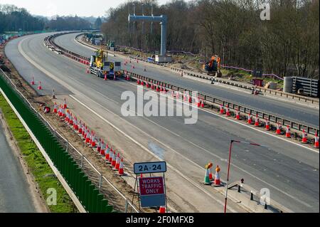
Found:
[[[41,154],[36,144],[31,139],[22,123],[6,102],[3,95],[0,94],[0,108],[4,114],[9,129],[11,130],[18,147],[21,149],[23,159],[28,164],[28,168],[33,174],[36,183],[43,194],[44,199],[47,199],[50,194],[47,194],[47,189],[53,188],[57,191],[57,205],[48,206],[53,213],[75,213],[78,212],[75,204],[70,199],[67,191],[60,184],[60,181],[55,177],[46,159]]]

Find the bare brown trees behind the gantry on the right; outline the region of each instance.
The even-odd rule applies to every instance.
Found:
[[[263,4],[265,3],[265,4]],[[168,16],[167,49],[213,54],[225,65],[280,76],[319,78],[319,0],[130,1],[110,9],[102,32],[117,45],[159,51],[154,23],[128,25],[128,13]],[[270,11],[267,11],[270,6]],[[270,20],[260,17],[270,12]],[[151,29],[152,27],[152,29]]]

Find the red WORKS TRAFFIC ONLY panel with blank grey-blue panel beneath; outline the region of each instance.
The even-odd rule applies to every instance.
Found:
[[[164,206],[164,177],[142,177],[139,179],[140,202],[142,207]]]

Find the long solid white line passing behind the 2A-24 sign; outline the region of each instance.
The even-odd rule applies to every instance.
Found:
[[[114,127],[115,130],[119,131],[120,133],[124,134],[125,137],[127,137],[128,139],[130,139],[132,142],[134,142],[135,144],[137,144],[139,147],[142,147],[142,149],[144,149],[146,152],[148,152],[149,154],[151,154],[152,156],[156,157],[156,159],[159,159],[160,161],[162,161],[163,159],[161,159],[160,157],[158,157],[156,154],[154,154],[153,152],[151,152],[149,149],[147,149],[146,147],[144,147],[141,143],[137,142],[137,140],[135,140],[134,138],[132,138],[131,136],[129,136],[129,134],[123,132],[122,130],[120,130],[117,126],[113,125],[109,120],[105,119],[105,117],[102,117],[101,115],[99,115],[97,112],[95,112],[95,110],[92,110],[90,107],[88,107],[87,105],[85,105],[83,102],[81,102],[80,100],[78,100],[76,97],[74,97],[73,95],[70,95],[70,97],[72,97],[75,101],[79,102],[82,106],[86,107],[87,110],[90,110],[90,112],[94,113],[95,115],[97,115],[97,117],[100,117],[101,120],[107,122],[109,125],[111,125],[112,127]],[[89,98],[90,99],[90,98]],[[113,112],[112,112],[113,113]],[[114,113],[113,113],[114,114]],[[115,115],[115,114],[114,114]],[[117,116],[117,115],[116,115]],[[122,117],[120,117],[122,118]],[[130,124],[130,123],[129,123]],[[142,131],[143,132],[143,131]],[[202,189],[200,186],[198,186],[198,184],[196,184],[196,182],[192,181],[191,179],[188,179],[188,177],[185,176],[185,174],[182,174],[181,171],[178,171],[178,169],[174,168],[173,166],[171,166],[171,164],[167,163],[167,166],[170,167],[173,171],[176,171],[176,173],[178,173],[181,177],[183,177],[184,179],[186,179],[189,183],[193,184],[193,186],[196,186],[196,188],[200,189],[201,191],[203,191],[205,194],[207,194],[208,196],[210,196],[212,199],[214,199],[215,201],[217,201],[220,205],[224,206],[224,203],[218,199],[215,199],[211,194],[208,193],[208,191]],[[228,207],[228,209],[234,213],[236,213],[235,210],[233,210],[233,208]]]

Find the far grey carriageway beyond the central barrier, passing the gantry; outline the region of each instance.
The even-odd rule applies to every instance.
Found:
[[[55,43],[69,51],[73,51],[74,53],[79,53],[82,56],[90,58],[93,51],[86,46],[82,46],[78,41],[75,41],[75,36],[78,34],[79,33],[70,33],[64,36],[58,36],[55,38]],[[108,56],[108,60],[123,61],[123,58]],[[132,62],[134,63],[134,61]],[[127,66],[122,65],[122,67],[125,70],[129,70],[133,73],[144,75],[155,80],[164,81],[183,88],[191,88],[199,93],[208,93],[214,97],[235,102],[245,107],[252,107],[253,109],[260,110],[262,112],[268,112],[294,122],[301,122],[309,126],[319,127],[319,110],[316,110],[315,108],[308,108],[291,102],[274,100],[270,97],[254,96],[238,90],[221,88],[217,85],[209,85],[196,80],[181,78],[178,74],[165,68],[164,70],[161,70],[161,68],[151,67],[151,64],[148,64],[150,66],[146,66],[146,72],[144,72],[144,66],[141,63],[134,63],[134,69],[131,68],[131,65],[132,64],[128,64]]]

